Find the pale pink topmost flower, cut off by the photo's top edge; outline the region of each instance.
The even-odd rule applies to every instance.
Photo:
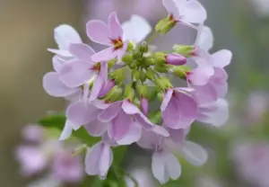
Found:
[[[202,23],[206,20],[204,6],[196,0],[162,0],[173,22],[181,22],[194,28],[191,23]],[[196,29],[196,28],[195,28]]]

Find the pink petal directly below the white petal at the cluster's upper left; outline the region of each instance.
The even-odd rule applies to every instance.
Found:
[[[74,43],[69,47],[69,51],[74,57],[84,62],[91,62],[91,56],[95,54],[94,49],[84,43]]]

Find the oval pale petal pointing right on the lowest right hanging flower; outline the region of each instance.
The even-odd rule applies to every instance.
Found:
[[[204,165],[207,161],[207,152],[203,147],[191,141],[186,141],[182,147],[182,152],[185,158],[192,165]]]

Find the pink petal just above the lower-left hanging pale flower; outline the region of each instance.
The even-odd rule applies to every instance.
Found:
[[[109,123],[104,123],[100,120],[93,120],[91,123],[85,125],[85,129],[91,134],[92,137],[100,137],[107,131],[108,124]]]

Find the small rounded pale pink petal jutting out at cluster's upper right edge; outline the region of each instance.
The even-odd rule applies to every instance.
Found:
[[[230,61],[232,58],[232,53],[230,50],[221,49],[215,52],[211,58],[213,59],[213,66],[214,67],[226,67],[230,65]]]

